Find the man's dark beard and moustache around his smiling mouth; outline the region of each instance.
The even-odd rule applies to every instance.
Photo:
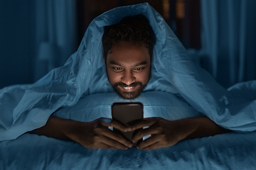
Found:
[[[137,86],[137,89],[132,92],[127,92],[127,91],[121,90],[122,87],[135,87],[135,86]],[[137,98],[139,96],[139,94],[142,93],[145,86],[146,86],[146,84],[142,84],[141,81],[134,82],[134,83],[130,84],[129,86],[122,82],[115,83],[112,85],[112,87],[114,88],[114,91],[116,91],[120,97],[125,98],[125,99]]]

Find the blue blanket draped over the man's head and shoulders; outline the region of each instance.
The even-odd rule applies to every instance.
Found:
[[[0,141],[45,125],[60,107],[74,106],[92,94],[113,93],[102,58],[104,26],[124,16],[144,14],[156,33],[152,74],[146,91],[163,91],[186,100],[215,123],[237,131],[256,129],[255,98],[237,98],[193,65],[164,19],[149,4],[114,8],[95,18],[78,48],[63,67],[53,69],[28,89],[0,91]],[[19,88],[19,87],[17,87]],[[18,96],[18,97],[17,97]],[[9,102],[10,101],[10,102]]]

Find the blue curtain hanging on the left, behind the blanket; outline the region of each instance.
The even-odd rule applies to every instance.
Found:
[[[76,2],[35,0],[33,3],[36,21],[33,75],[37,81],[53,68],[63,66],[77,49]]]

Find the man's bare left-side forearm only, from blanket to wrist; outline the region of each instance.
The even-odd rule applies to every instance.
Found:
[[[45,135],[47,137],[53,137],[59,140],[71,140],[66,134],[75,128],[78,128],[80,122],[75,120],[66,120],[62,118],[57,118],[55,116],[50,116],[46,125],[36,130],[32,130],[29,133]]]

